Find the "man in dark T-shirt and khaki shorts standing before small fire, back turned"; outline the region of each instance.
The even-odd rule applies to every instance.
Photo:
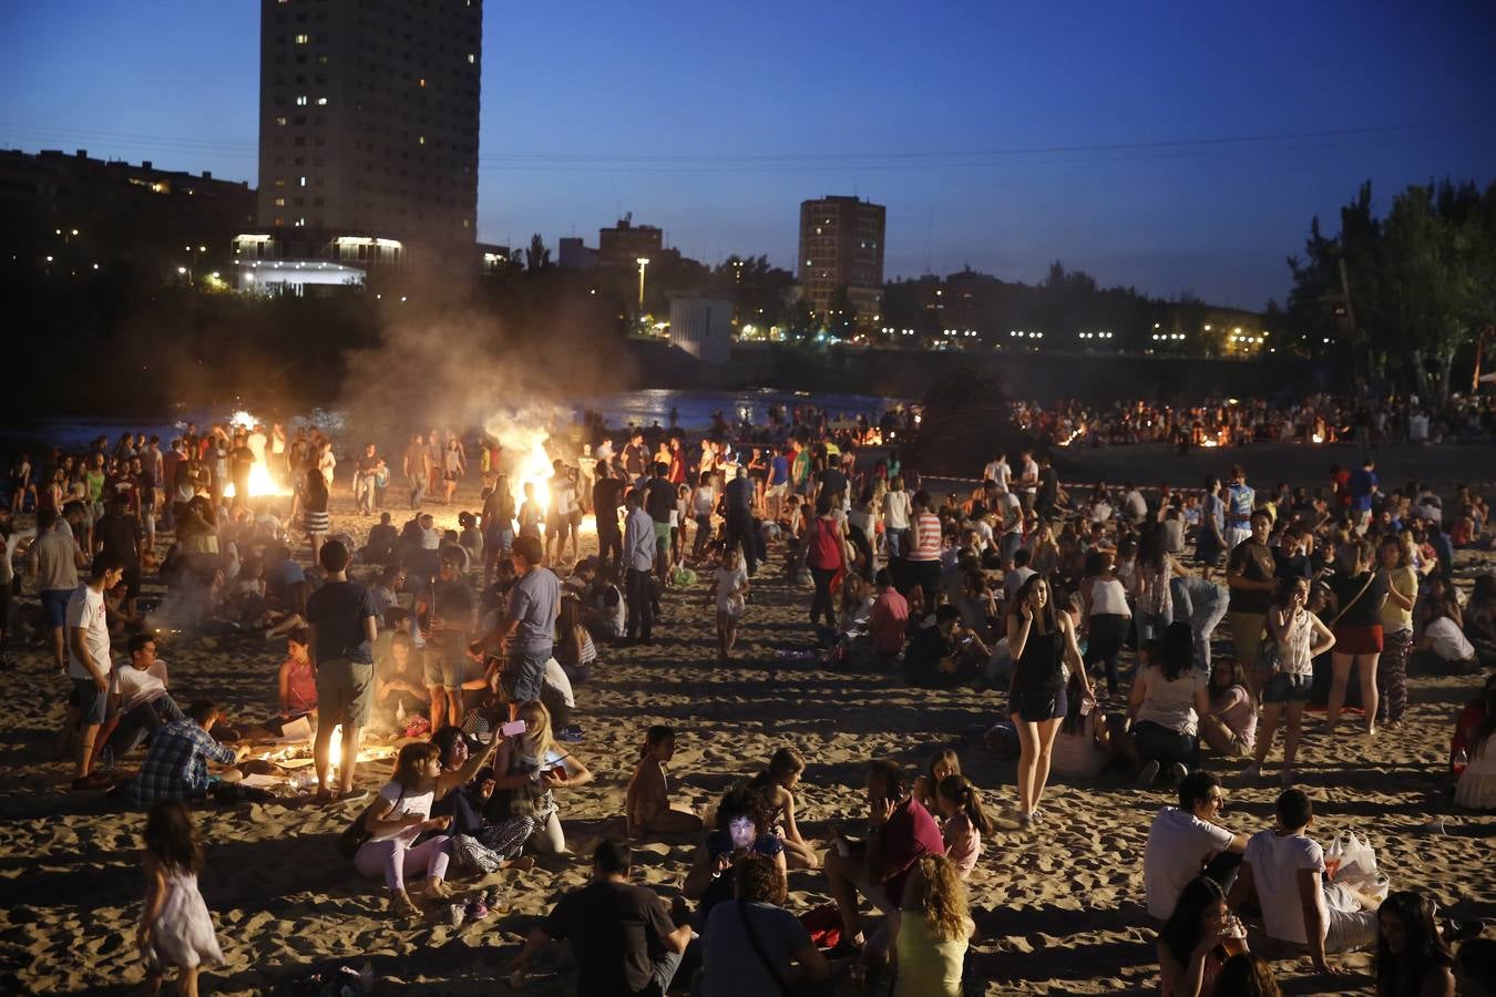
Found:
[[[311,664],[317,670],[317,740],[313,744],[317,795],[335,801],[356,800],[362,795],[353,789],[359,734],[374,707],[378,605],[373,592],[349,581],[349,549],[341,540],[322,544],[319,561],[328,581],[307,599]],[[343,758],[334,792],[329,753],[337,726],[343,728]]]

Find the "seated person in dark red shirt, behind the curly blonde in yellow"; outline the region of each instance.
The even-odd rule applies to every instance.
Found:
[[[826,882],[841,912],[844,937],[862,945],[860,892],[883,913],[899,909],[904,880],[929,854],[945,854],[945,842],[929,810],[908,794],[904,770],[892,761],[868,765],[868,837],[851,842],[836,831],[826,852]]]

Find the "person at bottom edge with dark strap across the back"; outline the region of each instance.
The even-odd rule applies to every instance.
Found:
[[[767,855],[749,854],[739,859],[733,886],[738,903],[717,904],[702,933],[700,997],[790,993],[790,981],[827,987],[830,963],[784,909],[784,870]]]

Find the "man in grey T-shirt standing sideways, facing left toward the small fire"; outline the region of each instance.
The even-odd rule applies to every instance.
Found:
[[[542,567],[545,547],[539,537],[516,537],[509,558],[515,568],[509,608],[494,631],[471,644],[468,650],[482,655],[509,641],[503,683],[509,697],[509,719],[513,720],[521,704],[540,698],[546,662],[555,649],[561,581],[549,568]]]

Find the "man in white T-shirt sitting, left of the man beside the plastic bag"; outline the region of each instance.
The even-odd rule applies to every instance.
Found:
[[[1164,807],[1147,830],[1143,852],[1143,891],[1147,913],[1167,921],[1185,885],[1209,876],[1228,886],[1246,851],[1246,836],[1215,824],[1225,797],[1221,780],[1194,771],[1179,782],[1179,807]]]

